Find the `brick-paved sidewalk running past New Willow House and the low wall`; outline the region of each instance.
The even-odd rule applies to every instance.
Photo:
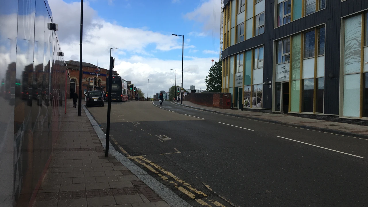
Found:
[[[180,103],[175,103],[181,105]],[[340,134],[344,136],[359,137],[368,139],[368,127],[348,124],[340,122],[330,122],[318,119],[308,119],[298,116],[277,114],[277,113],[262,113],[252,112],[246,110],[231,110],[231,109],[219,109],[208,106],[198,105],[189,101],[183,101],[183,106],[188,108],[205,110],[208,112],[219,113],[224,115],[242,117],[247,119],[259,120],[263,122],[270,122],[276,124],[283,124],[287,126],[312,129],[318,131],[325,131],[328,133]]]

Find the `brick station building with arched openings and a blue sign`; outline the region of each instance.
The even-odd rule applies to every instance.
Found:
[[[79,90],[79,61],[66,61],[67,70],[70,77],[70,98],[74,91]],[[96,69],[100,69],[98,74]],[[109,75],[109,70],[102,67],[97,67],[91,63],[82,62],[82,94],[86,91],[106,91],[106,77]],[[113,70],[113,76],[117,76],[116,70]],[[91,82],[90,82],[91,81]],[[93,84],[92,84],[93,82]]]

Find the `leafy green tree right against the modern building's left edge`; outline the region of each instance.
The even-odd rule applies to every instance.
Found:
[[[210,67],[208,76],[205,78],[207,91],[209,92],[221,92],[221,76],[222,76],[222,61],[215,62]]]

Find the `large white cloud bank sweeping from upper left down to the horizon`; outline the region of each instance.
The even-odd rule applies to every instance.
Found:
[[[62,0],[49,0],[49,3],[53,18],[59,24],[58,35],[64,59],[78,61],[80,14],[78,9],[73,10],[72,7],[77,7],[80,11],[80,3],[65,3]],[[181,50],[181,37],[173,36],[171,33],[149,31],[145,27],[127,28],[107,22],[99,18],[88,3],[84,6],[84,14],[89,11],[91,15],[84,17],[83,62],[97,64],[99,58],[99,66],[108,68],[109,49],[119,47],[120,49],[114,49],[112,53],[115,57],[114,70],[126,80],[132,81],[143,92],[146,92],[148,78],[153,78],[149,81],[150,88],[158,87],[157,90],[167,91],[175,84],[175,73],[170,69],[177,70],[177,84],[181,83],[181,56],[177,60],[162,60],[155,57],[160,51]],[[60,12],[70,10],[73,12]],[[184,48],[193,53],[198,52],[194,49],[195,46],[189,43],[190,40],[186,40]],[[204,79],[211,66],[210,58],[184,56],[184,88],[189,88],[189,85],[205,88]],[[150,93],[152,95],[153,90],[150,90]]]

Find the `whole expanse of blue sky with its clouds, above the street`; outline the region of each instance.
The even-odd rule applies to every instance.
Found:
[[[66,60],[79,60],[80,1],[48,1]],[[122,77],[141,88],[153,78],[150,87],[167,91],[175,81],[170,69],[177,69],[181,80],[182,39],[171,34],[184,35],[184,88],[205,88],[211,59],[219,59],[219,0],[84,2],[84,62],[97,64],[99,58],[99,66],[107,68],[109,48],[120,47],[113,56]]]

